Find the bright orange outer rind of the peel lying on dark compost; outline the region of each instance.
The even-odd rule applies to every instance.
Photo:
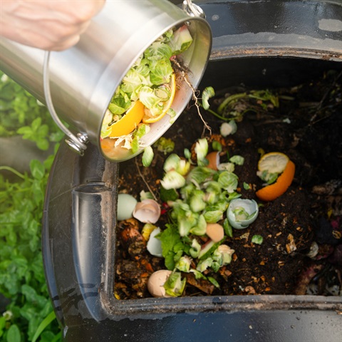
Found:
[[[262,201],[268,202],[273,201],[274,199],[283,195],[291,185],[291,182],[294,179],[295,171],[296,165],[294,165],[294,162],[289,160],[289,162],[286,164],[284,172],[281,173],[276,182],[258,190],[256,192],[257,197]]]

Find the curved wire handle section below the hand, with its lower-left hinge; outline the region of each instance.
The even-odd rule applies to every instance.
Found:
[[[88,142],[88,136],[84,133],[77,133],[77,135],[73,135],[68,128],[61,122],[60,118],[56,113],[56,110],[53,106],[52,98],[51,98],[51,90],[50,90],[50,71],[48,68],[48,62],[50,60],[50,51],[45,51],[44,53],[44,61],[43,61],[43,88],[44,88],[44,96],[46,100],[46,106],[48,111],[51,114],[51,117],[55,121],[56,125],[65,133],[68,138],[66,138],[66,144],[71,147],[71,149],[78,152],[79,155],[83,156],[84,151],[87,148],[86,143]]]

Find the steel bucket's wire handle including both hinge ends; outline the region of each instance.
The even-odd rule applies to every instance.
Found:
[[[188,16],[199,16],[201,18],[205,18],[204,11],[196,4],[192,4],[192,0],[184,0],[182,10],[185,11]],[[86,133],[77,133],[76,135],[73,135],[73,133],[71,133],[71,131],[68,130],[68,128],[66,128],[66,126],[62,123],[60,118],[58,118],[56,110],[53,106],[50,90],[50,71],[48,68],[50,54],[50,51],[45,51],[43,60],[43,90],[46,106],[56,125],[58,125],[63,133],[68,136],[68,138],[65,140],[66,144],[71,147],[72,150],[78,152],[79,155],[83,156],[84,151],[87,148],[86,143],[88,142],[88,135],[86,135]]]

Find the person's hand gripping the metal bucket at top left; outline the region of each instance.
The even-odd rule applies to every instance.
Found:
[[[105,0],[0,0],[0,35],[62,51],[75,45]]]

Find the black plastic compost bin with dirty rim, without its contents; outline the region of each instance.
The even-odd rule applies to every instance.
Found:
[[[341,1],[197,4],[213,34],[211,58],[199,89],[294,89],[320,82],[328,74],[335,76],[328,90],[336,86],[342,71]],[[321,99],[326,96],[323,92]],[[341,114],[341,103],[339,108]],[[173,133],[166,133],[176,145],[184,125],[198,131],[200,138],[202,123],[189,115],[197,114],[183,113],[172,125]],[[210,122],[215,121],[219,119]],[[276,122],[272,125],[278,127]],[[243,141],[249,130],[245,134]],[[336,151],[336,164],[322,165],[329,176],[341,180],[339,139],[327,136],[326,143],[319,142]],[[281,143],[274,146],[283,149]],[[296,146],[292,151],[300,160]],[[125,300],[115,296],[120,177],[140,159],[131,160],[133,164],[109,162],[93,145],[83,157],[66,145],[58,150],[46,192],[43,259],[65,341],[341,341],[341,287],[339,294],[330,296],[267,291]]]

